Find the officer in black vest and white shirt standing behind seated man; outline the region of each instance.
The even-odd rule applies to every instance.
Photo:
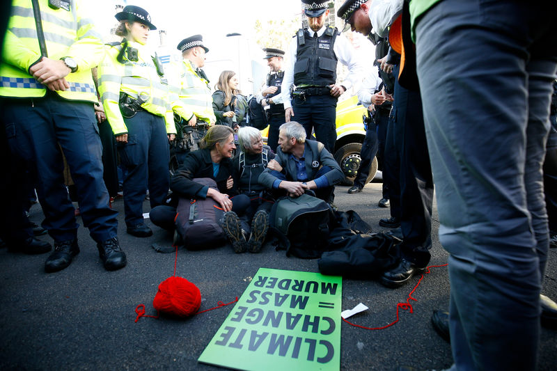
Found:
[[[363,66],[354,56],[350,42],[337,29],[324,26],[329,9],[324,0],[302,0],[310,29],[299,29],[290,42],[283,84],[285,122],[294,120],[311,137],[334,153],[336,142],[336,102],[347,88],[361,80]],[[336,82],[337,61],[347,65],[348,74],[343,84]],[[295,92],[290,94],[292,85]],[[294,99],[292,99],[292,96]]]

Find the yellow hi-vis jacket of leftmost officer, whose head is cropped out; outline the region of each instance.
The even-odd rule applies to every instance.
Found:
[[[70,89],[56,93],[68,100],[97,102],[91,68],[104,58],[104,47],[82,1],[71,1],[68,10],[52,9],[48,0],[38,3],[48,58],[69,56],[77,63],[77,72],[65,77]],[[10,10],[0,63],[0,96],[43,97],[47,87],[29,73],[42,58],[31,0],[13,0]]]

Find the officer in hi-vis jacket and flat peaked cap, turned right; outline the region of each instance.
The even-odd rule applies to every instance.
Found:
[[[182,52],[183,60],[178,64],[178,74],[170,84],[173,90],[172,109],[181,118],[180,138],[174,141],[173,147],[177,149],[178,164],[182,164],[185,154],[198,148],[209,125],[213,125],[217,118],[214,117],[209,79],[201,70],[205,65],[205,53],[209,52],[203,45],[203,36],[185,38],[178,44],[178,50]]]

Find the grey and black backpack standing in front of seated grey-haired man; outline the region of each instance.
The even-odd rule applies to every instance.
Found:
[[[274,203],[269,224],[273,232],[290,241],[287,256],[320,258],[324,251],[329,251],[332,213],[328,203],[308,194],[283,197]]]

